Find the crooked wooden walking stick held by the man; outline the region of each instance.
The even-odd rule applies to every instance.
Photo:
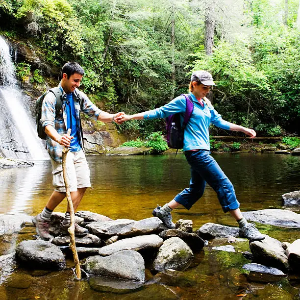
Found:
[[[68,135],[71,134],[71,128],[68,129]],[[71,223],[70,227],[68,228],[68,232],[70,234],[70,248],[73,253],[73,258],[75,262],[75,271],[76,271],[76,277],[77,279],[81,279],[81,270],[80,270],[80,263],[78,258],[78,253],[75,245],[75,215],[74,215],[74,207],[73,202],[71,199],[71,193],[70,193],[70,185],[69,185],[69,178],[67,175],[67,165],[66,165],[66,159],[67,159],[67,153],[69,152],[68,147],[63,147],[62,150],[62,167],[63,167],[63,176],[65,181],[65,187],[66,187],[66,197],[68,200],[68,204],[70,206],[70,215],[71,215]]]

